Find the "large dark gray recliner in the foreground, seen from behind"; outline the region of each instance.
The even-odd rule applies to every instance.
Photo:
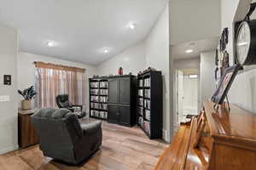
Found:
[[[102,145],[102,124],[80,124],[67,109],[44,108],[32,116],[44,156],[79,164]]]

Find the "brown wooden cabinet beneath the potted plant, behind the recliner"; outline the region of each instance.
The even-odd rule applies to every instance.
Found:
[[[18,139],[20,148],[38,144],[38,134],[31,122],[31,116],[36,110],[20,111],[18,114]]]

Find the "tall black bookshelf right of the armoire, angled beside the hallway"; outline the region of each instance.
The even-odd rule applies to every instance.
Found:
[[[161,71],[137,76],[137,125],[149,139],[160,139],[163,127],[163,82]]]

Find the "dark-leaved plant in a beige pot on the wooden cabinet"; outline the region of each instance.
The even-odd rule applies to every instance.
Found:
[[[31,110],[32,109],[32,99],[35,98],[37,92],[35,91],[34,86],[30,88],[26,88],[23,91],[18,90],[18,93],[23,96],[23,100],[21,101],[22,110]]]

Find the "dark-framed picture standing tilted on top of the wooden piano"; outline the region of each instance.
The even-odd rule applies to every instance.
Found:
[[[232,82],[234,81],[237,72],[240,70],[241,65],[233,65],[224,70],[223,76],[218,82],[218,86],[212,95],[212,102],[216,104],[223,104],[226,95],[228,94]]]

